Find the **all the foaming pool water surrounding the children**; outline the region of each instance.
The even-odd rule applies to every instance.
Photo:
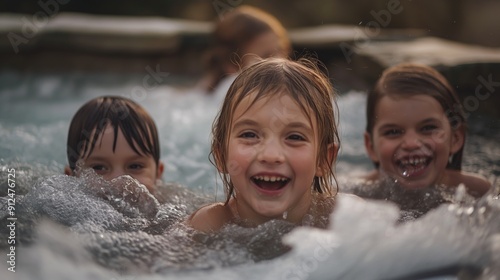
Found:
[[[253,229],[230,226],[212,235],[186,229],[178,223],[186,215],[204,203],[224,199],[221,180],[208,161],[210,125],[220,99],[168,82],[137,95],[141,79],[118,74],[0,73],[0,206],[7,209],[8,169],[14,168],[18,218],[16,273],[7,270],[9,228],[0,229],[2,279],[497,279],[500,275],[498,189],[475,200],[460,188],[456,193],[436,188],[408,194],[387,184],[377,194],[380,197],[371,194],[377,201],[339,195],[328,230],[294,229],[286,221]],[[162,195],[151,196],[128,176],[106,182],[92,172],[80,178],[62,175],[71,117],[84,102],[104,94],[136,100],[157,121],[166,167]],[[373,185],[355,179],[372,168],[361,137],[364,95],[344,93],[338,102],[339,189],[369,193]],[[464,169],[498,185],[500,147],[494,139],[500,135],[491,120],[471,121]],[[2,210],[0,217],[7,225],[8,213]]]

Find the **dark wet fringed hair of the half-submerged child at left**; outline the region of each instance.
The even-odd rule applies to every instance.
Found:
[[[158,131],[151,116],[139,104],[120,96],[102,96],[85,103],[75,113],[68,132],[67,157],[74,172],[76,162],[88,157],[106,127],[113,128],[113,152],[116,148],[118,129],[127,143],[140,155],[153,156],[156,165],[160,160]]]

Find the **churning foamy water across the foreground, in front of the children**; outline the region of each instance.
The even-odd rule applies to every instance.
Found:
[[[123,198],[135,208],[125,210],[114,200],[131,195],[129,190],[140,197],[142,186],[130,188],[134,180],[125,177],[107,183],[120,189],[114,195],[86,190],[85,183],[99,181],[92,173],[53,176],[21,198],[19,221],[36,226],[20,224],[19,236],[30,228],[36,238],[20,240],[15,279],[450,279],[464,271],[491,279],[499,272],[498,186],[475,201],[459,191],[455,203],[405,223],[397,222],[395,204],[338,194],[326,230],[272,220],[204,234],[182,223],[185,210],[195,205],[175,214],[166,202],[153,216],[151,206],[135,205],[145,198]],[[151,231],[155,222],[163,230]],[[40,273],[40,267],[51,269]]]

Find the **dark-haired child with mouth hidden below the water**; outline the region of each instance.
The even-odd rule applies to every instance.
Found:
[[[104,179],[130,175],[154,193],[163,174],[156,125],[134,101],[118,97],[97,97],[84,104],[71,120],[67,175],[80,168],[92,168]]]

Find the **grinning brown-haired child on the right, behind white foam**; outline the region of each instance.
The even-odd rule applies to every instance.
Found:
[[[387,69],[368,95],[365,146],[376,170],[407,189],[463,183],[476,197],[490,183],[461,171],[466,119],[448,81],[435,69],[401,64]]]

